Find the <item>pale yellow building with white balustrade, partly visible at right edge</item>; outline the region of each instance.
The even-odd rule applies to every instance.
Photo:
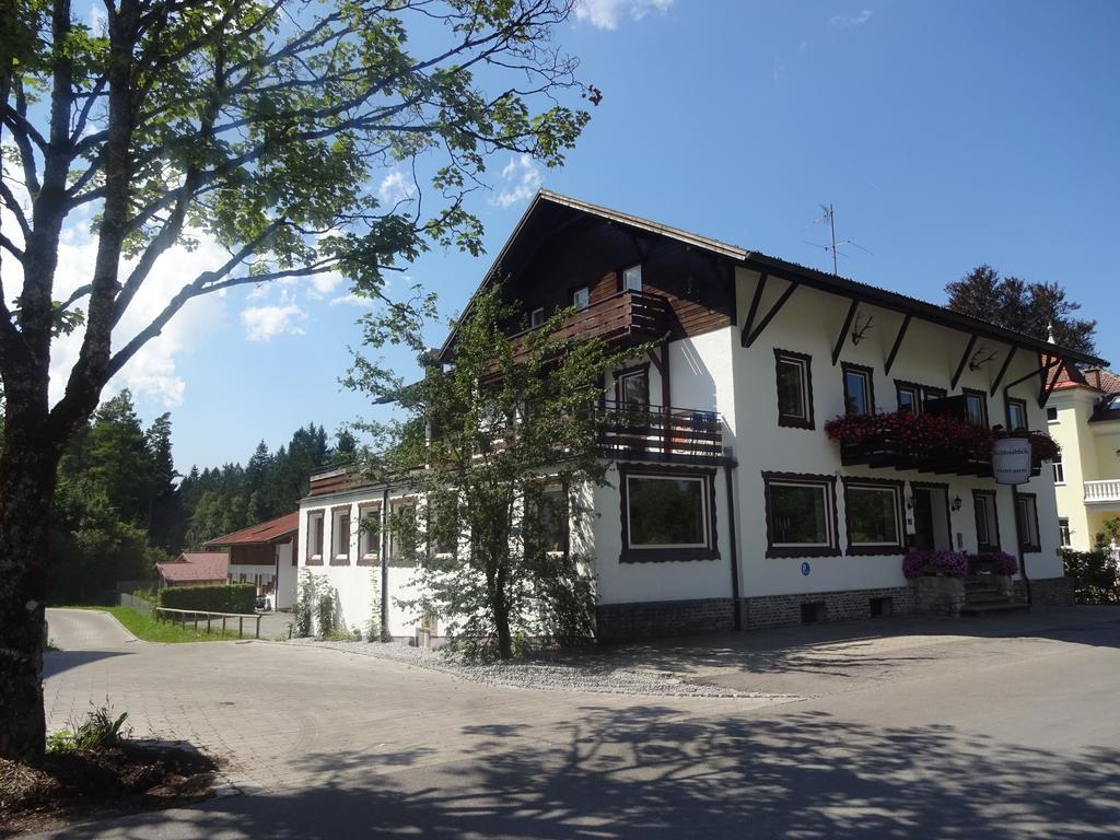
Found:
[[[1104,523],[1120,517],[1120,375],[1100,368],[1064,372],[1046,418],[1047,431],[1062,446],[1054,464],[1062,544],[1089,551],[1105,533]]]

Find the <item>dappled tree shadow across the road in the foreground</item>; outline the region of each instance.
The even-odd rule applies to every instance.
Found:
[[[1072,840],[1120,824],[1117,750],[1058,755],[950,726],[588,706],[559,730],[496,728],[465,743],[450,760],[402,754],[392,766],[315,756],[307,786],[133,818],[112,836]]]

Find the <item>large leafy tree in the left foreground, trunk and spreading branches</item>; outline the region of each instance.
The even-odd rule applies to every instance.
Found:
[[[551,40],[570,0],[103,7],[99,30],[71,0],[0,7],[0,259],[18,278],[0,289],[2,757],[43,756],[48,512],[105,383],[187,301],[236,286],[340,272],[419,317],[429,301],[388,299],[386,272],[431,243],[477,253],[465,199],[487,159],[561,162],[588,119],[573,97],[598,101]],[[393,172],[416,172],[401,200],[379,190]],[[60,237],[88,216],[96,258],[59,293]],[[159,256],[200,234],[225,262],[114,336]],[[53,405],[50,347],[67,330],[80,348]]]

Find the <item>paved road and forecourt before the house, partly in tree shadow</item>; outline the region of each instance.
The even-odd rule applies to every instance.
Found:
[[[250,792],[57,837],[1114,838],[1118,646],[1120,612],[1081,608],[618,654],[792,700],[501,689],[274,643],[54,653],[52,721],[109,691]]]

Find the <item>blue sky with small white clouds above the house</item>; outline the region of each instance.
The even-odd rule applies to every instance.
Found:
[[[603,104],[560,170],[512,157],[476,195],[495,253],[538,185],[941,302],[980,262],[1056,280],[1111,326],[1120,230],[1120,4],[586,0],[558,34]],[[457,311],[489,265],[433,252],[409,271]],[[396,281],[403,282],[403,281]],[[338,384],[361,309],[342,287],[192,304],[127,375],[175,456],[244,460],[308,421],[371,416]],[[442,338],[433,329],[432,344]],[[161,342],[164,338],[160,339]],[[396,360],[403,366],[407,360]]]

